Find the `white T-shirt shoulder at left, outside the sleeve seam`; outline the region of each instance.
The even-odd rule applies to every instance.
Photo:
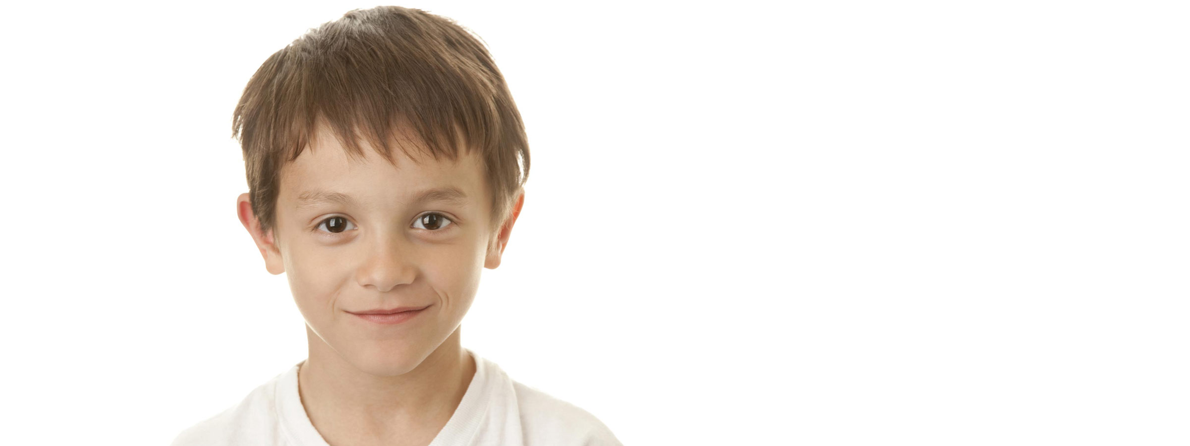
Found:
[[[182,431],[170,446],[281,445],[274,395],[276,382],[258,385],[239,403]]]

